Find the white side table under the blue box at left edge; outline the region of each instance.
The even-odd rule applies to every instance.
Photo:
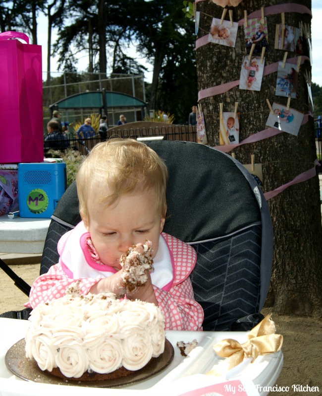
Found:
[[[51,219],[0,216],[0,252],[43,253]]]

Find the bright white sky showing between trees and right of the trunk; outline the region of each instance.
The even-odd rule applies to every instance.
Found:
[[[312,53],[313,53],[313,64],[312,64],[312,81],[322,86],[322,0],[312,0]],[[55,32],[53,33],[53,42],[56,39]],[[38,22],[38,44],[42,46],[43,56],[43,70],[47,70],[47,19],[46,17],[39,18]],[[130,56],[135,56],[135,51]],[[77,68],[82,71],[88,66],[87,55],[79,59]],[[145,73],[145,80],[147,82],[152,81],[152,65],[145,64],[149,71]],[[52,58],[51,70],[57,70],[57,59]],[[44,77],[45,78],[45,77]]]

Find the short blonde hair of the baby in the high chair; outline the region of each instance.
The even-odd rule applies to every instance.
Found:
[[[163,160],[142,142],[113,138],[98,143],[85,157],[76,175],[81,216],[89,221],[91,197],[109,206],[124,194],[147,190],[156,193],[158,207],[165,217],[167,177]],[[106,196],[107,189],[110,194]]]

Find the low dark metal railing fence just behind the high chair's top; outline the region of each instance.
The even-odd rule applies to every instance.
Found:
[[[163,138],[164,140],[182,140],[197,142],[196,127],[188,125],[169,125],[162,127],[148,127],[148,128],[111,128],[107,131],[107,138],[113,137],[132,138],[138,137],[148,138]],[[97,134],[86,139],[75,136],[73,132],[68,132],[63,135],[56,135],[55,138],[47,140],[44,139],[45,156],[50,149],[64,150],[72,148],[78,150],[81,154],[87,155],[95,144],[102,141],[103,138]]]

